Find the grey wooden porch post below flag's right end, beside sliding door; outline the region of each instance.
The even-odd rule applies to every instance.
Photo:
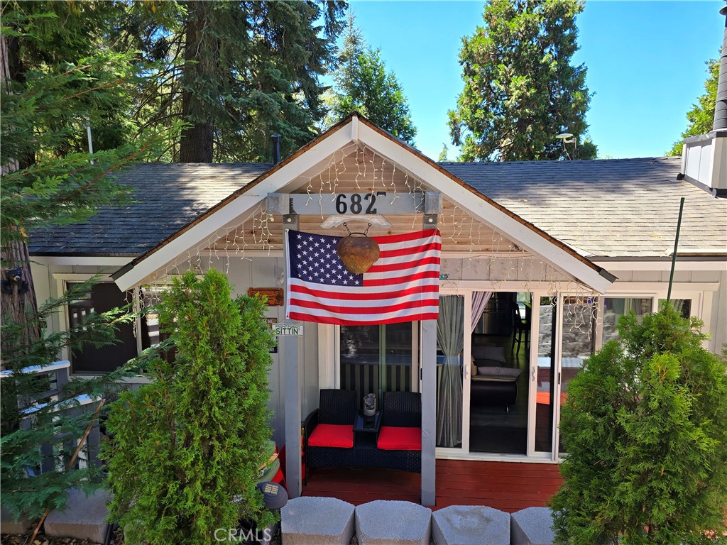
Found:
[[[422,505],[435,506],[437,320],[422,321]]]

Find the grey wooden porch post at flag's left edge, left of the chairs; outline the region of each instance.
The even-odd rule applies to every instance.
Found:
[[[284,217],[283,248],[286,259],[286,278],[289,273],[287,262],[288,255],[288,230],[298,228],[297,214],[288,214]],[[288,321],[288,320],[285,320]],[[278,339],[280,347],[281,367],[285,375],[285,480],[288,485],[288,494],[291,498],[297,498],[302,493],[301,460],[300,460],[300,424],[301,416],[301,384],[302,365],[300,358],[300,338],[281,337]]]

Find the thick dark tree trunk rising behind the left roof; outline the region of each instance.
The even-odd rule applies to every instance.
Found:
[[[180,162],[212,163],[213,127],[205,118],[205,105],[192,89],[195,81],[205,78],[209,72],[209,62],[214,62],[214,52],[210,49],[212,39],[203,33],[206,23],[206,9],[202,1],[188,2],[187,33],[185,44],[185,64],[182,74],[182,120],[190,123],[182,131],[180,140]]]

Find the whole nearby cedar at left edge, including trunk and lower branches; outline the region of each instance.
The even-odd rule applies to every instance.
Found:
[[[13,379],[1,382],[1,480],[3,505],[14,514],[35,517],[62,504],[69,487],[93,482],[93,467],[28,479],[28,467],[41,464],[41,444],[52,447],[52,455],[65,467],[65,444],[81,436],[91,416],[54,411],[73,405],[81,392],[102,392],[114,376],[71,382],[59,400],[34,413],[29,428],[19,429],[19,408],[44,400],[37,399],[37,377],[18,373],[28,366],[47,366],[64,348],[113,342],[116,328],[131,318],[121,312],[92,313],[71,331],[47,331],[52,316],[64,312],[69,301],[87,296],[90,286],[36,304],[28,233],[78,222],[100,206],[124,202],[128,193],[108,174],[130,161],[156,156],[153,150],[163,139],[160,134],[139,135],[134,144],[116,147],[120,137],[123,141],[132,134],[133,127],[121,119],[137,70],[128,56],[99,47],[114,6],[11,1],[1,9],[1,269],[4,280],[15,269],[27,283],[0,295],[2,366],[14,373]],[[89,123],[108,129],[100,131],[93,156],[84,151]]]

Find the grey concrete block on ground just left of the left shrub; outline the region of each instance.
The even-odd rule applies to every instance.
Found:
[[[63,510],[54,509],[48,514],[45,533],[103,543],[108,528],[106,506],[110,501],[109,491],[99,490],[87,497],[84,491],[73,488],[68,491]]]

